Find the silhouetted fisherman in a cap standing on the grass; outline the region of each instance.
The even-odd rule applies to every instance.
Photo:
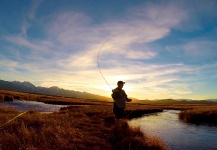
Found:
[[[112,98],[114,100],[114,107],[113,107],[113,113],[115,114],[116,119],[123,119],[124,118],[124,109],[126,106],[126,102],[131,102],[132,99],[129,99],[127,97],[127,94],[123,90],[125,82],[118,81],[117,82],[117,88],[112,90]]]

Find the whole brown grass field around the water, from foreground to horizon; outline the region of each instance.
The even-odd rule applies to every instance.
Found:
[[[111,101],[0,90],[2,101],[4,101],[5,96],[21,100],[74,106],[64,107],[60,111],[50,114],[30,110],[6,124],[0,128],[0,149],[2,150],[167,149],[160,139],[147,136],[139,128],[129,127],[126,120],[115,122]],[[77,104],[79,106],[75,106]],[[128,119],[141,117],[147,113],[161,112],[163,109],[182,110],[179,118],[186,122],[195,123],[195,120],[197,120],[196,123],[216,123],[217,105],[214,104],[134,102],[127,104],[125,117]],[[0,125],[19,113],[12,108],[0,107]],[[208,120],[212,121],[206,121],[207,116],[210,118]]]

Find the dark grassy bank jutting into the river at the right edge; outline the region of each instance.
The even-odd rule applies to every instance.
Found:
[[[217,125],[217,106],[182,111],[179,119],[187,123]]]

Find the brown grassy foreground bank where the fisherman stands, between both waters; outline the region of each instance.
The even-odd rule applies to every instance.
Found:
[[[42,114],[29,111],[0,128],[0,149],[167,149],[156,139],[115,123],[112,106],[63,108]],[[0,123],[19,114],[0,107]]]

